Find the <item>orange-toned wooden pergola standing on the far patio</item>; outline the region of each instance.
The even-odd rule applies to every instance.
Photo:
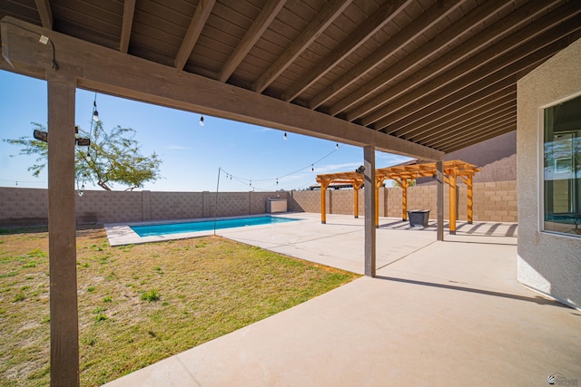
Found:
[[[457,181],[458,178],[464,181],[468,187],[468,223],[473,220],[473,184],[472,179],[480,169],[473,164],[462,160],[444,161],[443,177],[444,182],[449,186],[449,232],[456,234],[457,218]],[[434,177],[438,173],[435,162],[399,165],[394,167],[377,169],[375,172],[375,225],[379,227],[379,187],[386,179],[398,182],[402,189],[401,193],[401,218],[408,219],[408,188],[412,180],[418,178]],[[353,186],[353,214],[359,218],[359,189],[363,186],[364,176],[362,173],[340,172],[317,175],[317,182],[320,183],[320,222],[327,222],[325,210],[325,191],[331,183],[350,184]]]

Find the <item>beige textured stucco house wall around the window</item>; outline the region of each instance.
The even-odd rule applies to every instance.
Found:
[[[581,40],[517,83],[517,276],[524,285],[581,308],[581,238],[540,232],[541,113],[581,93]]]

